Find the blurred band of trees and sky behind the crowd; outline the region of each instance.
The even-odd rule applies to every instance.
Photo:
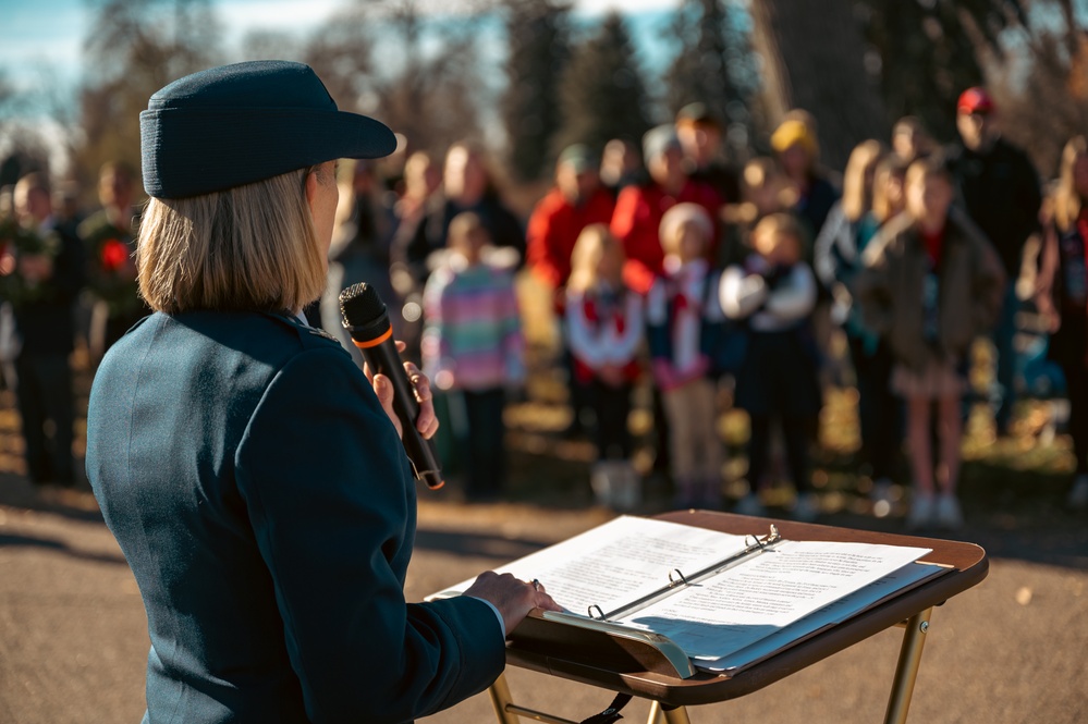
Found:
[[[309,63],[341,108],[380,118],[412,149],[480,140],[506,179],[534,187],[565,145],[637,140],[696,100],[725,124],[734,161],[765,152],[782,114],[804,108],[831,168],[906,114],[952,139],[955,98],[978,83],[1044,176],[1088,120],[1086,0],[680,0],[653,28],[668,51],[652,68],[629,17],[561,0],[344,0],[314,30],[253,32],[232,48],[213,0],[90,2],[74,102],[56,69],[15,84],[0,68],[0,184],[48,170],[58,144],[87,188],[105,160],[138,167],[151,93],[265,58]]]

